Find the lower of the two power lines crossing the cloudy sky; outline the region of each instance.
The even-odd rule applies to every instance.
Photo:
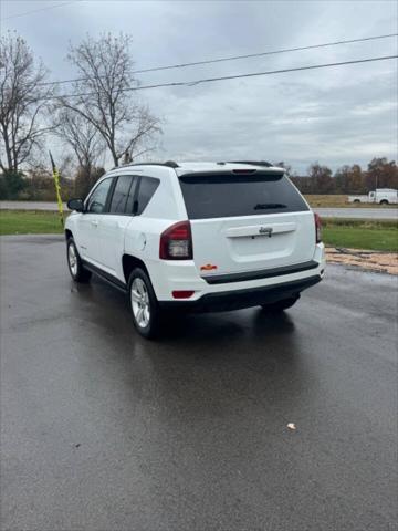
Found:
[[[287,72],[301,72],[306,70],[318,70],[318,69],[327,69],[332,66],[344,66],[348,64],[359,64],[359,63],[370,63],[375,61],[387,61],[391,59],[398,59],[398,55],[385,55],[378,58],[367,58],[367,59],[356,59],[352,61],[341,61],[338,63],[324,63],[324,64],[312,64],[306,66],[297,66],[295,69],[283,69],[283,70],[269,70],[266,72],[251,72],[248,74],[235,74],[235,75],[224,75],[220,77],[207,77],[201,80],[193,80],[193,81],[177,81],[170,83],[158,83],[154,85],[143,85],[143,86],[135,86],[129,88],[123,88],[121,92],[133,92],[133,91],[144,91],[148,88],[160,88],[160,87],[170,87],[170,86],[195,86],[203,83],[212,83],[216,81],[228,81],[228,80],[239,80],[243,77],[255,77],[261,75],[275,75],[275,74],[284,74]],[[69,98],[69,97],[86,97],[93,96],[96,93],[88,92],[83,94],[63,94],[61,96],[44,96],[40,100],[61,100],[61,98]]]

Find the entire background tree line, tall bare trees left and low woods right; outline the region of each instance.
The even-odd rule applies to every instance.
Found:
[[[104,174],[105,158],[119,166],[156,148],[160,119],[135,91],[132,58],[130,35],[87,35],[70,45],[66,61],[74,79],[60,88],[20,35],[0,38],[0,199],[54,199],[48,147],[55,139],[62,145],[57,162],[65,198],[85,196]],[[386,158],[335,173],[314,163],[305,176],[276,165],[304,194],[398,188],[397,165]]]

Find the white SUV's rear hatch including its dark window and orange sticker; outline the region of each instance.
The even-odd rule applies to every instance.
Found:
[[[283,173],[179,177],[201,277],[302,264],[315,251],[314,216]]]

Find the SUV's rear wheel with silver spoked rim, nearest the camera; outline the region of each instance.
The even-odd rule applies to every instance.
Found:
[[[143,337],[156,337],[161,313],[149,277],[140,268],[134,269],[129,275],[128,295],[136,331]]]

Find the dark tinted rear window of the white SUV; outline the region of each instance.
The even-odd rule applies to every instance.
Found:
[[[179,181],[190,219],[308,210],[289,178],[281,174],[191,174]]]

